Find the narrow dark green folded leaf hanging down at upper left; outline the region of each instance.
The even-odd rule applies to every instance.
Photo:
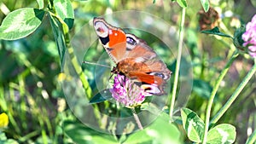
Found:
[[[58,52],[61,59],[61,68],[62,68],[65,51],[67,49],[66,43],[65,43],[65,37],[62,32],[62,24],[59,20],[56,20],[51,14],[49,14],[49,22],[55,37],[55,42],[57,44]]]

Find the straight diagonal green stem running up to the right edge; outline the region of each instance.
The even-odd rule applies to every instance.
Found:
[[[212,121],[210,124],[216,124],[218,119],[221,118],[224,115],[224,112],[226,112],[231,104],[236,100],[237,96],[241,93],[241,90],[247,85],[248,81],[253,77],[254,73],[256,72],[256,63],[254,63],[254,66],[252,69],[247,73],[247,76],[243,78],[241,81],[241,84],[237,87],[233,95],[230,96],[230,99],[224,104],[224,107],[222,107],[218,113],[212,118]]]

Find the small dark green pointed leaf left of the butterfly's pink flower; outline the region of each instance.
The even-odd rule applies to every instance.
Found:
[[[90,99],[90,103],[99,103],[102,101],[106,101],[112,98],[112,94],[109,89],[104,89],[101,92],[97,93]]]

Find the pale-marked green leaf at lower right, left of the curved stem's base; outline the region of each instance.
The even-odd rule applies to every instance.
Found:
[[[183,119],[183,128],[186,130],[190,141],[201,142],[204,134],[204,122],[198,115],[189,110],[189,108],[181,109]]]

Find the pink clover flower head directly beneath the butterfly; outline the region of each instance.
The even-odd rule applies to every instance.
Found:
[[[119,74],[114,77],[110,92],[113,98],[125,107],[136,107],[145,101],[146,96],[151,96],[129,78]]]

